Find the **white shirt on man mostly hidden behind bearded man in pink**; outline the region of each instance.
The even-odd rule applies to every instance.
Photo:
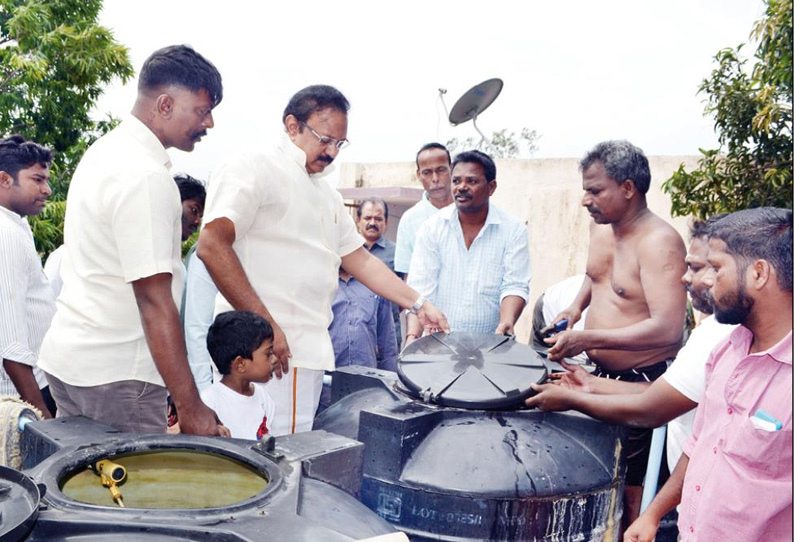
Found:
[[[720,324],[714,316],[704,318],[697,326],[686,344],[676,354],[675,361],[662,375],[668,384],[687,399],[699,403],[706,380],[706,361],[709,354],[736,326]],[[667,465],[673,472],[684,442],[692,435],[695,409],[667,424]]]

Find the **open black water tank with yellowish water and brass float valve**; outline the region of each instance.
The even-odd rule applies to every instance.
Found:
[[[31,532],[21,540],[349,542],[397,532],[356,498],[361,483],[360,443],[314,431],[269,444],[275,447],[235,439],[119,433],[82,417],[29,423],[21,443],[23,473],[46,491]],[[251,477],[265,481],[266,487],[242,500],[232,498],[234,502],[223,506],[200,508],[150,508],[136,505],[132,498],[131,505],[120,508],[110,496],[106,504],[97,504],[69,494],[70,481],[99,460],[110,459],[121,466],[130,460],[131,466],[131,458],[156,462],[158,454],[179,453],[207,455],[215,465],[216,459],[220,464],[234,462],[244,472],[250,471]],[[202,486],[201,479],[209,473],[190,468],[186,466],[184,472],[196,479],[185,482],[195,483],[183,485],[178,477],[161,483],[146,473],[133,476],[127,469],[127,479],[118,487],[130,496],[168,491],[179,497],[184,491],[206,491],[218,494],[210,495],[213,498],[234,489],[230,480],[223,483],[224,471],[216,473],[219,482]],[[96,483],[97,491],[103,491],[99,476]],[[148,486],[142,491],[134,484]]]

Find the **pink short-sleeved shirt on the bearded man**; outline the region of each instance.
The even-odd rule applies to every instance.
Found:
[[[749,353],[752,341],[738,326],[706,363],[705,392],[684,445],[684,542],[791,540],[791,330],[763,352]]]

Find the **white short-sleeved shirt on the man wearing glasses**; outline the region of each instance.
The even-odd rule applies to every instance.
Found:
[[[218,218],[234,224],[233,249],[287,337],[290,365],[333,370],[328,326],[339,265],[364,244],[339,192],[306,172],[306,154],[284,136],[271,151],[238,156],[217,171],[204,224]],[[232,308],[219,294],[216,313]]]

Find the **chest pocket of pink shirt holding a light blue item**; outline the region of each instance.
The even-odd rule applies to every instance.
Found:
[[[738,431],[727,439],[724,452],[728,458],[762,477],[774,478],[783,465],[791,464],[791,437],[791,429],[765,431],[745,418]]]

